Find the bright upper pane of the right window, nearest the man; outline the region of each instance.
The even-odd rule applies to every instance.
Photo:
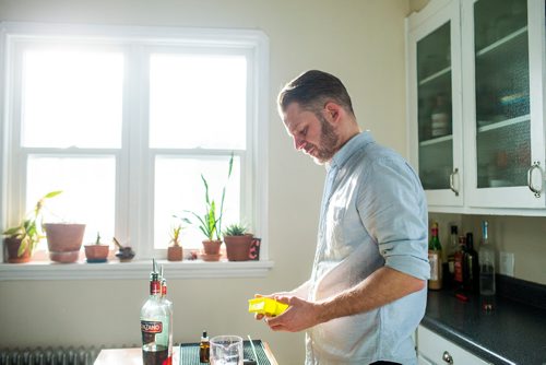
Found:
[[[246,93],[242,56],[152,55],[150,145],[244,150]]]

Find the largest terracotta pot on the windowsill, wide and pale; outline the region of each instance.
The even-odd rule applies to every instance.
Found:
[[[78,261],[82,248],[85,224],[46,223],[47,246],[51,261]]]

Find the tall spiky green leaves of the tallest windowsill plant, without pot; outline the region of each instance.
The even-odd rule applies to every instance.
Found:
[[[232,153],[232,157],[229,158],[229,166],[227,170],[227,179],[232,176],[234,165],[234,153]],[[224,199],[226,196],[226,187],[222,189],[222,198],[219,202],[219,210],[216,211],[216,202],[214,199],[211,199],[209,195],[209,182],[206,178],[201,174],[201,180],[203,181],[203,186],[205,188],[205,213],[200,215],[195,212],[189,212],[192,214],[199,223],[199,229],[205,235],[205,237],[210,240],[214,240],[216,237],[219,240],[219,234],[222,232],[222,216],[224,214]],[[227,184],[227,182],[226,182]]]

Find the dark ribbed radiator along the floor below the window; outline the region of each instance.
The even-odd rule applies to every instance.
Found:
[[[0,349],[0,365],[93,365],[100,349]]]

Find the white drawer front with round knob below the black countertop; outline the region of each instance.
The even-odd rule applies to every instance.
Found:
[[[487,365],[489,363],[467,352],[430,331],[417,327],[417,363],[419,365],[460,364],[460,365]]]

